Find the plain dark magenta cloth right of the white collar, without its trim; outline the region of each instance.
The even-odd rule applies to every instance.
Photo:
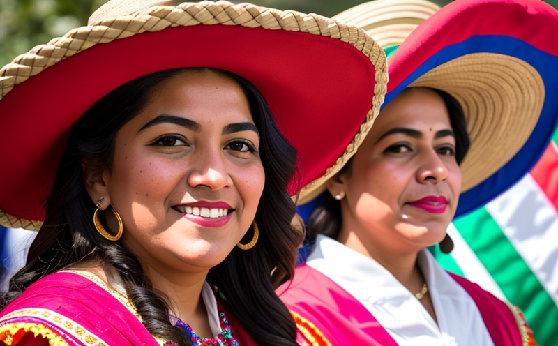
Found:
[[[506,303],[462,276],[455,275],[454,273],[449,273],[449,275],[475,301],[495,346],[523,345],[518,321]]]

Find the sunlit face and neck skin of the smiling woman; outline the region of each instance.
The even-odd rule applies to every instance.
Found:
[[[91,200],[104,197],[100,209],[112,205],[122,218],[123,246],[169,296],[174,315],[202,336],[211,336],[201,299],[206,275],[246,234],[264,189],[258,148],[241,87],[213,71],[186,70],[158,85],[119,130],[112,167],[86,170]],[[200,201],[227,204],[228,215],[180,209]]]

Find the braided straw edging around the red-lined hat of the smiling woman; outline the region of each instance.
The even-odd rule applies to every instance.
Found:
[[[130,4],[126,10],[119,3]],[[181,3],[179,6],[153,6],[161,1],[119,1],[116,7],[110,1],[91,16],[89,26],[73,29],[61,38],[54,38],[46,45],[33,48],[30,52],[16,57],[12,63],[0,70],[0,100],[17,84],[54,66],[63,59],[88,50],[89,48],[111,43],[114,40],[135,36],[146,31],[162,31],[169,27],[190,27],[195,25],[224,24],[248,28],[270,30],[299,31],[317,36],[335,38],[349,43],[356,50],[368,57],[375,66],[375,96],[372,98],[370,112],[365,117],[353,140],[333,167],[329,167],[323,176],[315,179],[303,188],[303,196],[312,191],[318,183],[329,179],[354,154],[370,130],[372,122],[379,113],[380,105],[386,93],[387,71],[386,57],[379,45],[365,31],[356,27],[339,24],[319,15],[306,15],[295,11],[281,11],[254,6],[248,3],[234,5],[227,1],[202,1],[199,3]],[[165,2],[167,3],[167,2]],[[121,13],[114,13],[114,9]],[[132,13],[124,15],[125,13]],[[146,47],[149,49],[149,47]],[[141,57],[137,57],[141,59]],[[43,196],[45,197],[45,196]],[[0,225],[6,227],[24,227],[38,230],[40,220],[27,220],[10,216],[0,210]]]

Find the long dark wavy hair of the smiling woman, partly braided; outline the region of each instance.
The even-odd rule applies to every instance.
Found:
[[[167,301],[154,292],[137,258],[120,243],[104,239],[93,226],[95,206],[84,188],[82,174],[84,162],[110,167],[118,130],[142,110],[158,84],[183,70],[165,70],[123,84],[98,100],[79,119],[46,202],[45,223],[29,248],[27,265],[10,280],[1,308],[43,276],[82,260],[101,260],[119,273],[152,335],[177,345],[192,345],[186,333],[169,322]],[[264,97],[250,82],[223,70],[194,70],[211,70],[240,84],[259,130],[259,152],[266,173],[255,216],[260,231],[257,245],[246,251],[235,247],[209,271],[207,280],[218,287],[225,309],[258,345],[296,345],[296,326],[274,292],[276,286],[292,278],[296,248],[301,241],[300,232],[290,225],[296,207],[287,193],[296,150],[282,136]],[[251,234],[248,232],[246,238]]]

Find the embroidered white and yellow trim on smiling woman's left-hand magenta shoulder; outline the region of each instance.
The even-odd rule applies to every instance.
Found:
[[[15,310],[8,315],[4,315],[0,318],[0,323],[13,318],[31,317],[34,319],[41,319],[48,322],[54,326],[58,326],[61,330],[73,336],[76,340],[80,340],[84,345],[94,345],[94,346],[107,346],[108,344],[90,331],[84,329],[80,324],[68,319],[63,315],[59,315],[52,310],[47,309],[20,309]],[[43,336],[49,340],[49,345],[52,346],[68,346],[66,340],[63,340],[62,336],[56,331],[53,331],[45,324],[35,323],[35,322],[7,322],[0,326],[0,340],[3,340],[7,345],[16,344],[23,336],[20,331],[23,330],[24,333],[29,331],[33,332],[35,336]]]

